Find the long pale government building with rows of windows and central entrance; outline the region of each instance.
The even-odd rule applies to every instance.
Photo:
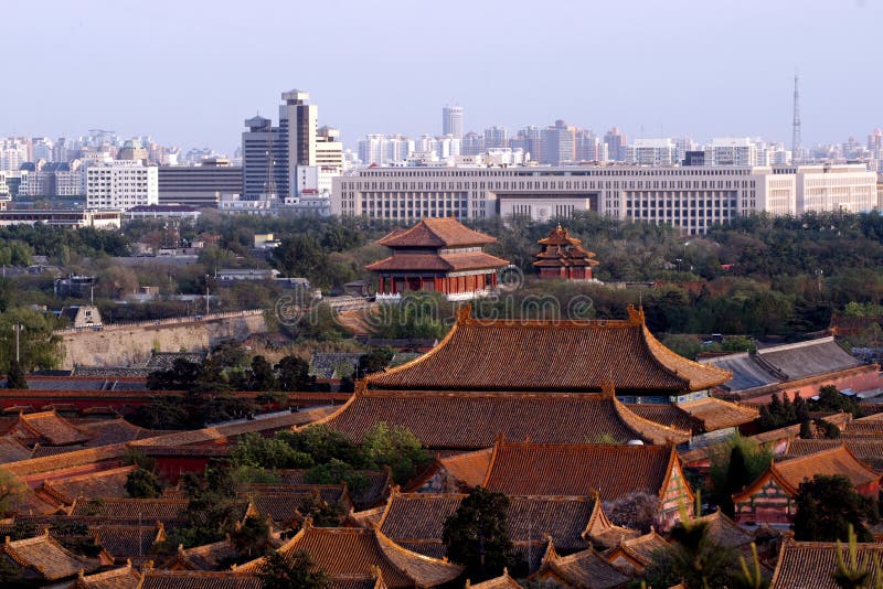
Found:
[[[331,195],[336,215],[545,221],[596,211],[690,234],[751,213],[860,212],[877,204],[876,173],[863,164],[368,168],[336,178]]]

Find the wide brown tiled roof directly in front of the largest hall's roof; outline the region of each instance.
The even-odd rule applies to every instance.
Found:
[[[609,394],[360,390],[322,420],[353,440],[379,421],[411,430],[427,448],[489,448],[506,440],[545,443],[653,443],[690,439],[689,431],[643,419]]]

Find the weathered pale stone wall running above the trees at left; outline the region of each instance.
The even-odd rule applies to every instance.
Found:
[[[199,321],[187,318],[131,325],[106,325],[100,330],[70,329],[57,333],[65,347],[62,367],[72,368],[75,365],[143,365],[153,351],[203,351],[222,340],[244,340],[266,329],[263,311],[244,311],[216,313]]]

